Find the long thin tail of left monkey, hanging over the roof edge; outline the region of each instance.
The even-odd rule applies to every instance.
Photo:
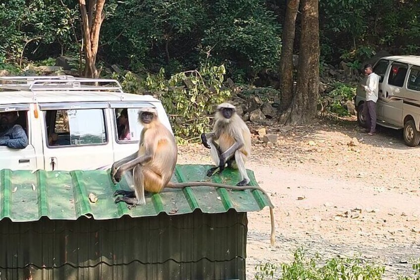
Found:
[[[270,207],[270,221],[271,221],[271,235],[270,235],[270,243],[271,246],[274,245],[275,243],[275,223],[274,223],[274,213],[273,213],[273,208],[274,205],[271,203],[270,197],[268,196],[268,194],[259,186],[232,186],[232,185],[227,185],[227,184],[218,184],[218,183],[213,183],[213,182],[200,182],[200,181],[195,181],[195,182],[185,182],[185,183],[173,183],[173,182],[169,182],[166,187],[167,188],[172,188],[172,189],[183,189],[185,187],[201,187],[201,186],[207,186],[207,187],[218,187],[218,188],[227,188],[227,189],[233,189],[233,190],[248,190],[248,189],[256,189],[256,190],[260,190],[263,194],[265,194],[265,196],[268,199],[268,202],[270,203],[269,207]]]

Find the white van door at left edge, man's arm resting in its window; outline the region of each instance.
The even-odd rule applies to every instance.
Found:
[[[9,104],[0,106],[0,112],[18,112],[19,116],[15,124],[20,125],[28,137],[28,145],[23,149],[14,149],[7,146],[0,146],[0,169],[35,170],[37,168],[42,168],[42,166],[37,166],[37,157],[34,147],[34,144],[36,144],[34,143],[36,142],[34,141],[36,140],[36,137],[31,137],[31,131],[33,128],[31,128],[30,125],[31,122],[29,109],[29,104]],[[9,138],[7,136],[4,137]]]

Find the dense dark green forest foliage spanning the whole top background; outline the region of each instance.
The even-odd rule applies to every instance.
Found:
[[[224,64],[235,81],[250,82],[262,70],[277,68],[285,3],[106,0],[98,63],[144,73],[163,67],[166,78],[207,63]],[[357,67],[380,49],[420,54],[419,14],[418,1],[320,0],[321,60]],[[80,30],[77,1],[1,1],[0,68],[5,62],[19,65],[21,56],[23,61],[78,56]]]

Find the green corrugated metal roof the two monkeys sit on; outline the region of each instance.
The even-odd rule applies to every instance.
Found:
[[[210,166],[177,165],[172,181],[205,181]],[[258,185],[252,170],[247,170],[252,185]],[[211,177],[213,182],[235,185],[239,172],[225,169]],[[205,185],[205,183],[203,184]],[[125,203],[114,203],[112,194],[126,189],[125,180],[114,185],[109,170],[45,171],[0,170],[0,220],[13,222],[37,221],[46,216],[51,220],[76,220],[80,216],[95,220],[156,216],[159,213],[179,215],[200,209],[203,213],[260,211],[270,206],[259,190],[228,190],[214,187],[165,189],[159,194],[146,194],[146,205],[129,210]],[[89,194],[97,196],[92,203]]]

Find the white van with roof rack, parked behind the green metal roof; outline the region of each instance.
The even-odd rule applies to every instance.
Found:
[[[138,149],[142,127],[137,112],[144,107],[156,108],[161,122],[172,132],[159,100],[124,93],[116,80],[0,77],[0,112],[19,112],[17,124],[29,140],[24,149],[0,146],[0,169],[73,170],[112,165]],[[127,137],[119,137],[118,118],[124,109],[129,129]]]

